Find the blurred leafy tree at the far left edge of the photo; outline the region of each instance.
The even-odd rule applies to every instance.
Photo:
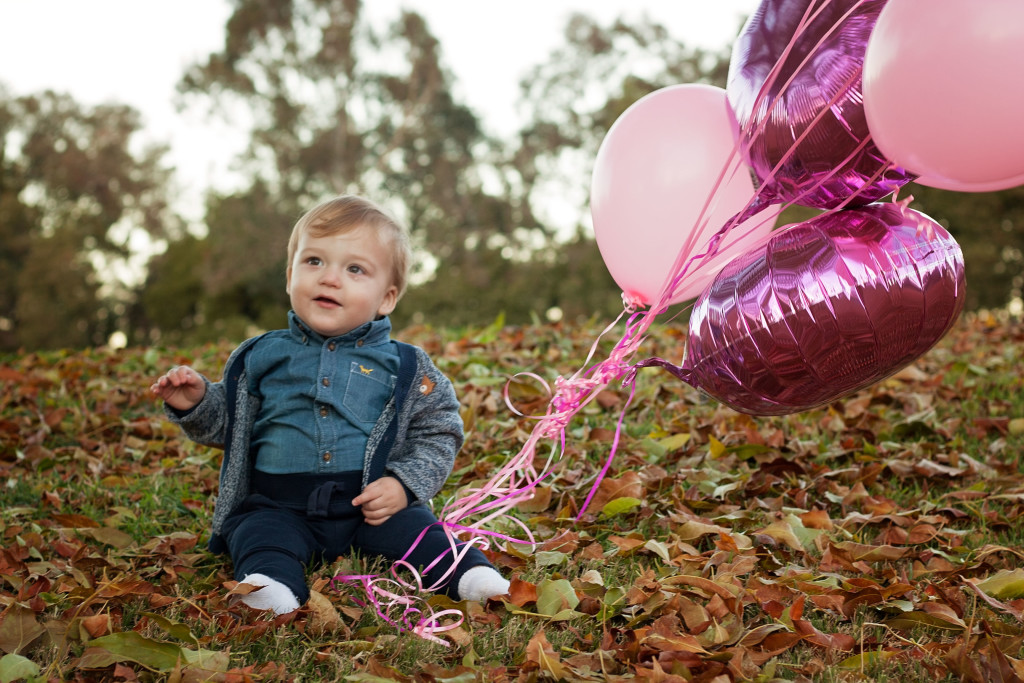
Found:
[[[82,346],[119,328],[132,292],[109,276],[133,230],[174,229],[165,150],[132,151],[138,114],[0,89],[0,347]]]

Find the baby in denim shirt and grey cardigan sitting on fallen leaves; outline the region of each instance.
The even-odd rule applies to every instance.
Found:
[[[220,382],[182,366],[153,384],[189,438],[224,450],[210,549],[261,587],[243,597],[252,607],[297,609],[306,565],[352,550],[428,567],[425,586],[447,573],[457,600],[509,589],[475,547],[460,545],[454,562],[426,505],[464,436],[451,381],[390,338],[410,252],[406,230],[366,199],[314,207],[288,244],[288,329],[244,342]]]

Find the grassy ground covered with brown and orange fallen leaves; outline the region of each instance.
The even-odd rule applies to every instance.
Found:
[[[446,490],[485,481],[532,428],[516,373],[581,368],[597,328],[410,330],[454,379],[469,438]],[[613,336],[613,335],[612,335]],[[645,354],[679,358],[659,327]],[[608,340],[604,346],[610,346]],[[644,371],[569,425],[492,553],[506,601],[459,604],[451,645],[399,633],[314,567],[272,618],[205,549],[219,453],[147,393],[219,375],[231,345],[0,362],[0,681],[1019,680],[1024,677],[1024,328],[964,318],[907,370],[825,410],[751,418]],[[524,414],[539,385],[516,382]],[[546,455],[546,454],[545,454]],[[441,597],[439,607],[452,606]]]

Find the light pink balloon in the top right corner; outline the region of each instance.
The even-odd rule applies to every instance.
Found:
[[[889,0],[864,54],[876,145],[916,182],[1024,182],[1024,2]]]

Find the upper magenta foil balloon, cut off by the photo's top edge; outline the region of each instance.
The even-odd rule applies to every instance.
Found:
[[[748,211],[869,204],[913,179],[871,141],[861,68],[885,0],[763,0],[733,44],[726,86],[762,188]],[[776,168],[777,167],[777,168]]]

